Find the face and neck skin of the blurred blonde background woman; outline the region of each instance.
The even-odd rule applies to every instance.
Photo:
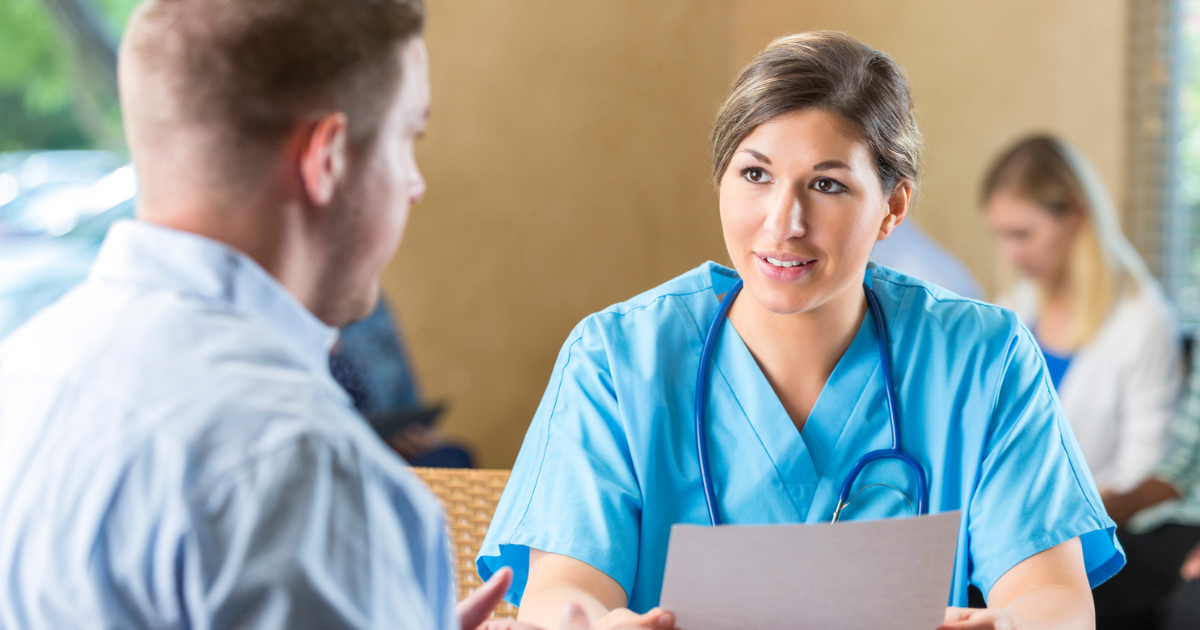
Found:
[[[1068,270],[1084,212],[1072,209],[1055,215],[1037,202],[1002,188],[988,198],[984,218],[1004,262],[1036,282],[1046,296],[1038,314],[1038,341],[1052,352],[1070,353],[1073,294]]]

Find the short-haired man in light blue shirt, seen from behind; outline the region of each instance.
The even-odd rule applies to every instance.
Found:
[[[425,182],[421,0],[149,0],[140,182],[0,346],[0,629],[475,628],[445,524],[329,374]]]

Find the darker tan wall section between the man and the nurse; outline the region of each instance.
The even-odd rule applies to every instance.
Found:
[[[446,432],[511,466],[584,316],[724,256],[724,1],[431,0],[428,181],[385,276]]]

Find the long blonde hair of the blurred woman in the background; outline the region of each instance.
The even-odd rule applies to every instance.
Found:
[[[1108,188],[1092,163],[1074,146],[1050,136],[1025,138],[996,160],[984,180],[983,202],[1008,191],[1054,216],[1080,212],[1084,221],[1072,244],[1069,343],[1091,341],[1117,300],[1138,292],[1158,292],[1158,282],[1117,222]],[[1039,295],[1045,302],[1046,296]]]

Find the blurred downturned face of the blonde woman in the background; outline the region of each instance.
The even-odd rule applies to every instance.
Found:
[[[1062,280],[1079,230],[1079,212],[1054,215],[1032,199],[1000,190],[988,198],[984,216],[1006,263],[1042,284]]]

